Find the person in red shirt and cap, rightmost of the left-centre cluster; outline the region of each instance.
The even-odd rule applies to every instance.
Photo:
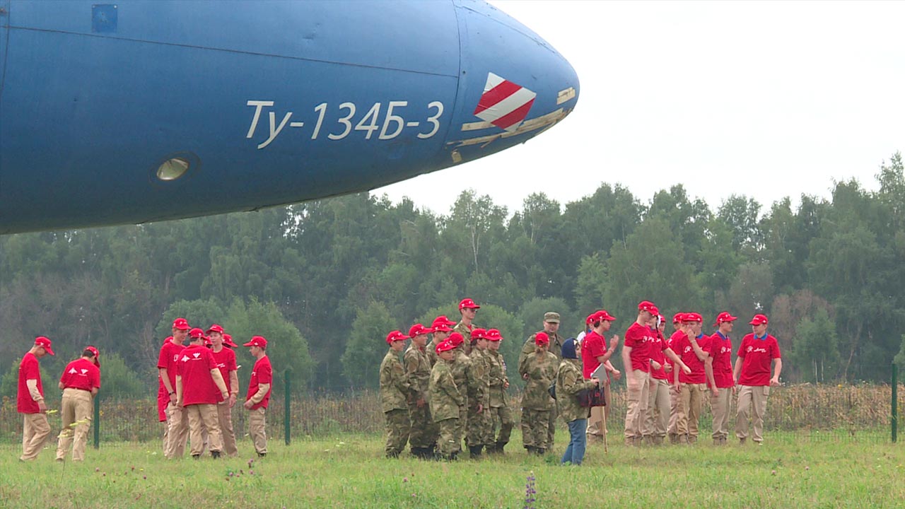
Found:
[[[267,339],[263,336],[252,336],[252,340],[243,343],[254,357],[252,378],[248,379],[248,393],[245,395],[243,407],[249,410],[248,434],[252,437],[254,451],[258,457],[267,456],[267,405],[271,401],[273,390],[273,368],[271,359],[267,357]]]

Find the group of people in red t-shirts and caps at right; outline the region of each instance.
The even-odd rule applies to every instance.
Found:
[[[676,313],[673,331],[667,337],[666,320],[657,306],[649,301],[638,304],[637,318],[625,331],[622,349],[628,388],[626,445],[658,445],[666,437],[673,444],[697,442],[698,421],[707,397],[713,414],[713,443],[725,445],[733,394],[738,395],[735,434],[739,443],[745,444],[748,439],[749,421],[753,424],[753,441],[758,445],[763,442],[767,396],[770,387],[779,385],[782,356],[776,338],[767,333],[767,316],[756,314],[749,322],[751,333],[738,346],[733,366],[729,334],[737,319],[729,312],[720,312],[713,324],[716,331],[707,335],[702,331],[700,313]],[[619,337],[610,339],[608,349],[604,337],[614,320],[604,310],[589,315],[586,324],[590,331],[581,345],[585,378],[606,380],[607,386],[611,376],[623,376],[609,360]],[[604,433],[604,408],[592,408],[588,438],[603,439]]]

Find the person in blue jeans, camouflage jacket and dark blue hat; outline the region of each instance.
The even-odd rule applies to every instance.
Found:
[[[581,406],[578,392],[582,389],[594,389],[600,384],[600,379],[586,380],[582,376],[575,340],[566,340],[561,354],[562,360],[557,370],[557,413],[566,421],[569,442],[560,463],[579,466],[585,458],[585,432],[590,408]]]

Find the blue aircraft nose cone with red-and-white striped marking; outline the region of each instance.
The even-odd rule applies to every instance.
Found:
[[[578,100],[575,69],[493,5],[457,1],[459,100],[447,148],[454,162],[522,143],[563,120]]]

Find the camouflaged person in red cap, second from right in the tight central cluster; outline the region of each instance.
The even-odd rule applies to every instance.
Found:
[[[493,433],[493,420],[490,418],[491,406],[491,366],[487,351],[487,331],[472,329],[472,372],[475,383],[480,387],[476,399],[469,399],[468,433],[466,442],[472,459],[481,456],[481,449],[490,441]]]

